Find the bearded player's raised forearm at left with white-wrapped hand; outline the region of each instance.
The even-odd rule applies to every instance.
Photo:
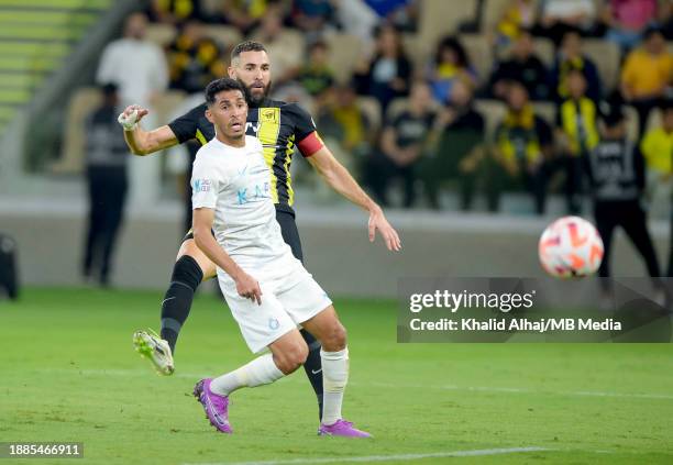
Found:
[[[167,125],[152,131],[143,130],[139,123],[147,113],[147,109],[132,104],[126,107],[117,119],[124,129],[126,145],[134,155],[150,155],[179,143],[173,130]]]

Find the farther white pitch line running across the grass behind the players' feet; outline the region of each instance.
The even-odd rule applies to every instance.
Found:
[[[152,370],[148,369],[47,369],[48,372],[58,373],[81,373],[82,375],[96,375],[96,376],[145,376],[152,375]],[[43,370],[45,372],[45,370]],[[189,378],[189,379],[201,379],[208,375],[203,373],[184,373],[179,372],[173,375],[174,378]],[[283,383],[299,383],[293,378],[284,378]],[[626,399],[651,399],[651,400],[673,400],[673,395],[670,394],[649,394],[649,392],[614,392],[614,391],[592,391],[592,390],[540,390],[529,388],[508,388],[497,386],[457,386],[457,385],[415,385],[415,384],[397,384],[397,383],[358,383],[349,381],[350,386],[362,386],[362,387],[378,387],[386,389],[439,389],[439,390],[455,390],[455,391],[468,391],[468,392],[494,392],[494,394],[526,394],[526,395],[540,395],[540,396],[570,396],[570,397],[615,397]]]

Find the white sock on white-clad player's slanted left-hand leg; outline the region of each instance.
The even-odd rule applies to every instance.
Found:
[[[233,372],[214,378],[210,384],[210,389],[220,396],[229,396],[242,387],[268,385],[284,376],[274,363],[274,355],[265,354]]]

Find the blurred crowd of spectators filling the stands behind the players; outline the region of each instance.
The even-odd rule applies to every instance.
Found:
[[[225,74],[235,40],[212,31],[227,27],[267,46],[275,97],[302,103],[384,206],[441,209],[442,193],[452,191],[462,210],[484,199],[479,208],[498,211],[501,193],[515,191],[527,192],[530,211],[542,214],[556,191],[569,212],[580,212],[592,193],[585,165],[605,135],[606,102],[631,109],[636,131],[628,136],[646,160],[646,193],[666,189],[673,1],[474,4],[454,34],[428,43],[423,0],[154,0],[146,16],[126,23],[126,38],[141,42],[142,53],[124,49],[114,60],[106,51],[98,80],[120,84],[132,68],[121,100],[141,104],[165,89],[200,95]],[[496,21],[484,24],[494,4]],[[146,37],[157,26],[175,31],[161,47]],[[360,49],[334,49],[334,34],[357,37]],[[486,44],[492,63],[465,37]],[[614,44],[618,76],[602,74],[587,41]],[[352,57],[345,76],[332,68],[334,53]]]

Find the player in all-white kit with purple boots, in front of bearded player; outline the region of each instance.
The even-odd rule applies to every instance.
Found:
[[[206,89],[206,117],[216,137],[197,153],[191,177],[194,236],[218,266],[218,280],[253,353],[249,364],[201,379],[194,395],[210,423],[231,433],[229,396],[262,386],[301,366],[308,346],[298,325],[322,344],[323,413],[319,434],[369,438],[341,418],[349,377],[345,329],[332,301],[291,253],[280,234],[261,142],[245,135],[245,90],[222,78]]]

